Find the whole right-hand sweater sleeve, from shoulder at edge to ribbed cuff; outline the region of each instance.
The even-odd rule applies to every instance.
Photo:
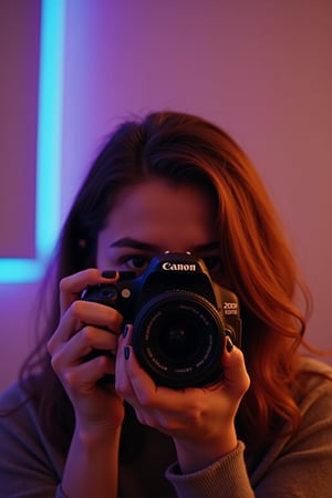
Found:
[[[302,415],[297,434],[284,427],[274,444],[246,465],[245,445],[211,466],[181,475],[177,464],[166,477],[178,498],[331,498],[332,497],[332,370],[305,361],[295,394]]]

